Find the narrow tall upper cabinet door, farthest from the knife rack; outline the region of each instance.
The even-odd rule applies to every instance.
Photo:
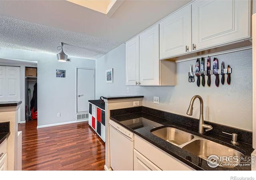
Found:
[[[140,80],[139,36],[126,42],[126,85],[136,85]]]

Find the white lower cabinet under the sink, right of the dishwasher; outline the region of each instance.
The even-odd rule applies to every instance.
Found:
[[[194,170],[137,135],[134,149],[134,170]],[[135,156],[135,152],[140,154]]]

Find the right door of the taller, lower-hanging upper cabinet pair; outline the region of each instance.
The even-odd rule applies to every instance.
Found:
[[[140,83],[159,85],[159,24],[140,34]]]

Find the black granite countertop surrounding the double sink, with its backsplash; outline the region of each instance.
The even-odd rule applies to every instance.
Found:
[[[127,108],[128,109],[128,108]],[[139,109],[139,108],[138,108]],[[134,110],[132,110],[134,111]],[[130,111],[129,114],[123,114],[125,113],[124,110],[118,110],[118,112],[111,113],[111,120],[114,120],[118,124],[124,126],[128,130],[134,132],[134,134],[140,136],[144,140],[150,142],[151,144],[157,146],[161,150],[167,152],[171,156],[174,156],[178,160],[184,162],[188,166],[194,168],[195,170],[251,170],[251,166],[236,166],[234,168],[224,168],[224,167],[216,167],[216,168],[211,168],[208,166],[206,160],[178,147],[175,146],[174,144],[171,144],[157,136],[151,133],[152,129],[158,128],[157,124],[160,124],[162,128],[163,126],[166,127],[174,127],[180,130],[183,130],[185,132],[188,132],[190,134],[194,134],[196,136],[199,136],[201,138],[205,138],[208,140],[211,140],[213,142],[217,142],[219,144],[228,146],[230,148],[233,148],[235,150],[238,150],[242,152],[245,156],[250,156],[253,148],[252,144],[247,144],[244,142],[239,142],[240,144],[237,146],[234,146],[230,142],[230,138],[227,138],[225,136],[220,136],[211,132],[206,132],[204,134],[198,133],[198,128],[190,126],[189,123],[184,123],[181,124],[177,122],[177,120],[172,120],[171,118],[165,119],[159,116],[154,116],[152,114],[148,114],[145,112],[133,112]],[[136,110],[135,110],[136,111]],[[181,116],[182,117],[182,116]],[[129,120],[132,120],[132,123],[129,124]],[[134,120],[136,121],[141,121],[140,123],[134,123]],[[143,122],[145,120],[145,123]],[[148,120],[152,121],[154,125],[152,124],[147,124],[146,126],[143,126],[142,124],[148,123]],[[184,120],[186,121],[186,120]],[[208,123],[208,122],[206,122]]]

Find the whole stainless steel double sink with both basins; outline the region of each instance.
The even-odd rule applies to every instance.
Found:
[[[207,161],[207,158],[211,155],[220,156],[238,156],[239,160],[244,154],[241,152],[223,146],[216,142],[206,140],[199,136],[195,136],[188,132],[178,130],[172,127],[164,127],[158,130],[152,130],[151,132],[155,136],[166,140],[204,160]],[[220,166],[220,165],[219,165]],[[225,168],[234,168],[237,165],[223,166]]]

